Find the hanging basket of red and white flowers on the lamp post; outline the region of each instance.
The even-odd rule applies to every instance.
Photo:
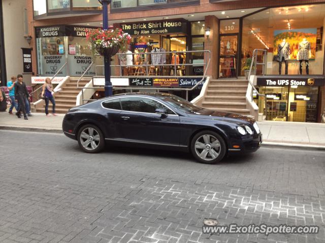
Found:
[[[92,50],[106,57],[114,56],[119,50],[126,52],[127,45],[131,44],[131,36],[118,28],[90,29],[86,33],[86,39],[90,42]]]

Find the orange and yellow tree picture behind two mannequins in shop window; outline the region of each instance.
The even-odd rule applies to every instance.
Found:
[[[275,30],[273,55],[278,54],[279,44],[282,43],[283,39],[286,39],[286,42],[290,45],[290,59],[297,60],[299,43],[301,43],[305,38],[310,43],[311,47],[310,60],[314,60],[316,54],[316,37],[317,28]]]

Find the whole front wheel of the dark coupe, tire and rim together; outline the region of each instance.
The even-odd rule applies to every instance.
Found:
[[[219,134],[206,130],[193,137],[191,152],[200,163],[216,164],[224,157],[226,144]]]

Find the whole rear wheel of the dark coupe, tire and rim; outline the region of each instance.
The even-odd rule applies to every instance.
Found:
[[[105,138],[98,127],[87,124],[78,131],[78,143],[86,153],[98,153],[105,147]]]

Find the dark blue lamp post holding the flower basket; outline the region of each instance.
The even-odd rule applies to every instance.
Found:
[[[107,30],[108,26],[108,6],[112,0],[98,0],[103,5],[103,29]],[[113,95],[113,86],[111,82],[111,56],[104,56],[105,69],[105,97]]]

